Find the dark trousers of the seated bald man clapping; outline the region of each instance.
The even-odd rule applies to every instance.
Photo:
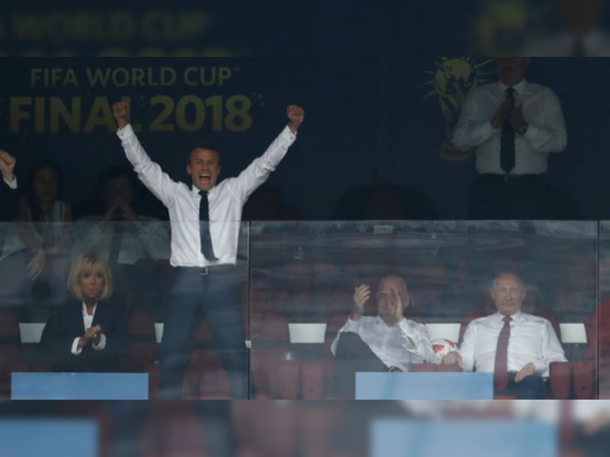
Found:
[[[384,372],[388,367],[362,341],[357,333],[342,333],[337,342],[333,379],[334,395],[342,399],[356,397],[356,373]]]

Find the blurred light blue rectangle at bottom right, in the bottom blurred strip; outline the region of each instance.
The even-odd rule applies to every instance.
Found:
[[[372,457],[557,457],[550,423],[518,420],[376,420]]]

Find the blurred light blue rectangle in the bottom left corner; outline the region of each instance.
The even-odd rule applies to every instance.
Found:
[[[0,420],[2,457],[98,457],[94,420]]]

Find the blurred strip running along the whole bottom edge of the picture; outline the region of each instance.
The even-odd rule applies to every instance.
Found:
[[[604,401],[5,402],[0,413],[7,456],[601,457],[610,443]]]

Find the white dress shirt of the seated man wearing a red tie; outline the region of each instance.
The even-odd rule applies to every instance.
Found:
[[[503,319],[502,314],[495,313],[470,322],[459,349],[465,371],[476,368],[479,372],[493,373]],[[528,363],[533,363],[536,374],[548,378],[549,364],[565,361],[564,349],[547,319],[522,312],[512,316],[508,342],[509,372],[519,372]]]

